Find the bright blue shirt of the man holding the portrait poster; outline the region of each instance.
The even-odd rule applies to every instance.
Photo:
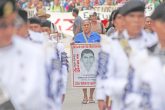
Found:
[[[91,35],[89,37],[86,37],[86,39],[88,42],[86,42],[85,36],[83,35],[83,32],[81,32],[75,36],[74,42],[75,43],[96,43],[96,42],[100,42],[101,37],[98,33],[91,32]]]

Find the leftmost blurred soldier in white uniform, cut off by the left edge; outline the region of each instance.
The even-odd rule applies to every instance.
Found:
[[[14,0],[1,0],[0,11],[0,82],[15,109],[58,110],[57,82],[49,78],[59,73],[59,65],[53,62],[50,68],[40,47],[13,36],[17,11]]]

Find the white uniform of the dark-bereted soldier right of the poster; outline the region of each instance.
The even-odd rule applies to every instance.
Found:
[[[124,31],[123,35],[129,40],[129,45],[133,50],[142,50],[157,42],[156,40],[150,41],[151,35],[145,31],[142,31],[136,39],[129,39],[127,31]],[[112,110],[120,110],[123,106],[123,91],[128,82],[129,61],[119,43],[117,32],[109,38],[106,44],[102,44],[99,57],[96,98],[105,100],[106,96],[110,96],[113,101]]]

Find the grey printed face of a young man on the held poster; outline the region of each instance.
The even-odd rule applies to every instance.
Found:
[[[94,60],[95,60],[95,57],[94,57],[94,53],[92,50],[85,49],[82,51],[81,61],[87,71],[90,71],[90,69],[94,63]]]

